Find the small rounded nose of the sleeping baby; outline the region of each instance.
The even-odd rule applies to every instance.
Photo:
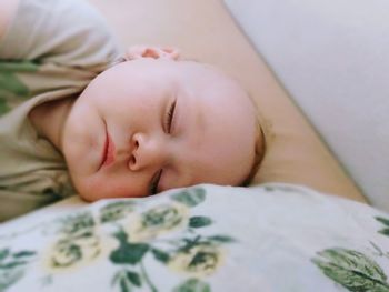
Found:
[[[146,168],[158,170],[166,162],[166,150],[163,143],[158,138],[136,133],[131,139],[131,149],[129,169],[132,171],[139,171]]]

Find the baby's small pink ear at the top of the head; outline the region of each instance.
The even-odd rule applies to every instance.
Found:
[[[134,46],[127,49],[124,58],[126,60],[142,58],[178,60],[180,51],[171,47]]]

